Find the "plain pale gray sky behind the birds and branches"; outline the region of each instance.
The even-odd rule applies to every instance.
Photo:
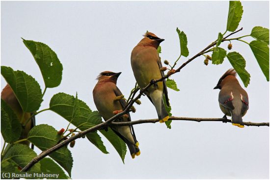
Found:
[[[269,28],[269,2],[243,1],[239,37],[254,26]],[[225,32],[228,1],[2,1],[1,65],[22,70],[33,76],[44,89],[44,83],[31,53],[22,42],[27,40],[49,45],[63,64],[61,84],[48,89],[40,109],[49,107],[51,97],[64,92],[76,95],[96,110],[92,90],[102,71],[122,72],[117,85],[126,96],[134,87],[130,64],[132,49],[146,30],[162,42],[162,59],[173,63],[180,53],[176,27],[188,37],[192,57]],[[245,38],[250,42],[252,38]],[[250,84],[246,88],[249,110],[243,121],[269,122],[269,82],[248,45],[232,42],[233,50],[246,60]],[[221,45],[227,50],[227,42]],[[228,50],[227,50],[228,51]],[[228,51],[229,52],[229,51]],[[188,58],[181,57],[177,67]],[[221,118],[218,90],[213,90],[221,75],[231,65],[203,64],[196,58],[180,73],[172,76],[179,92],[168,90],[172,114],[181,117]],[[240,78],[238,77],[240,80]],[[240,80],[243,86],[242,81]],[[6,82],[1,77],[1,89]],[[157,118],[154,106],[146,97],[136,105],[133,120]],[[37,124],[55,129],[68,122],[54,112],[36,117]],[[268,179],[269,128],[243,129],[220,122],[172,122],[135,125],[141,155],[135,159],[127,152],[125,164],[114,148],[103,138],[110,154],[103,154],[86,139],[76,140],[71,149],[73,179]],[[2,145],[2,143],[1,143]],[[39,154],[40,151],[35,151]]]

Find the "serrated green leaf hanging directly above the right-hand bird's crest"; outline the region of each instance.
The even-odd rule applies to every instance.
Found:
[[[244,69],[245,68],[245,60],[243,56],[238,52],[229,52],[227,54],[227,58],[229,59],[231,65],[241,78],[244,83],[244,87],[247,87],[250,80],[249,73]]]

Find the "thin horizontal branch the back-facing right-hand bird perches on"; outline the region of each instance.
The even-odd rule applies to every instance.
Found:
[[[231,123],[231,120],[225,118],[187,118],[187,117],[175,117],[171,116],[168,120],[178,120],[178,121],[196,121],[196,122],[223,122],[223,123]],[[144,124],[144,123],[157,123],[159,119],[142,119],[137,121],[131,122],[112,122],[110,123],[113,126],[131,126],[137,124]],[[252,123],[252,122],[243,122],[245,126],[269,126],[269,123]]]

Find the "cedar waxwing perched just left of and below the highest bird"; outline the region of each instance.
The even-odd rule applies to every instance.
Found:
[[[122,95],[116,86],[117,78],[120,74],[110,71],[100,73],[97,77],[98,83],[93,89],[94,103],[105,121],[115,115],[113,111],[123,110],[126,106],[126,100],[124,99],[115,101],[117,96]],[[131,121],[130,114],[127,114],[128,116],[121,116],[114,120],[114,122]],[[132,158],[140,154],[139,143],[136,140],[133,126],[116,126],[111,129],[127,144]]]

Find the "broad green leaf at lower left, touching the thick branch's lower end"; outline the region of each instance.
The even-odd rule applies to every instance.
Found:
[[[24,168],[37,154],[24,144],[15,144],[13,145],[9,151],[5,154],[5,159],[12,159],[18,166]],[[29,171],[40,171],[40,163],[37,162],[34,164]]]

